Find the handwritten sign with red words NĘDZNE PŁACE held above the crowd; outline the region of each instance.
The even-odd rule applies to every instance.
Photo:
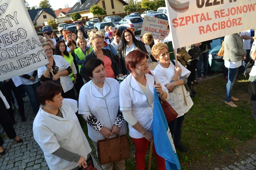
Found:
[[[169,34],[169,31],[166,29],[166,25],[168,24],[169,22],[167,20],[144,16],[140,35],[143,36],[145,33],[149,32],[153,35],[154,39],[159,38],[159,40],[164,40]]]

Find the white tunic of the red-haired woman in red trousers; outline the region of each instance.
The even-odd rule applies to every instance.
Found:
[[[145,74],[148,87],[154,95],[154,80],[160,83],[163,91],[168,92],[158,76],[151,71],[152,75]],[[167,93],[168,94],[168,93]],[[148,99],[132,74],[128,75],[120,84],[119,90],[120,110],[131,110],[133,117],[143,128],[151,132],[153,122],[154,101],[148,103]],[[142,133],[129,125],[129,135],[133,138],[143,138]]]

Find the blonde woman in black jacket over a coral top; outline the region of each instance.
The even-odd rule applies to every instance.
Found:
[[[93,51],[85,57],[83,65],[80,69],[81,76],[87,82],[89,82],[91,79],[89,78],[88,75],[85,74],[84,66],[87,63],[87,61],[89,61],[92,58],[99,58],[104,62],[106,77],[116,78],[116,76],[118,75],[123,76],[120,72],[117,62],[111,55],[111,51],[109,51],[108,49],[102,48],[103,46],[102,43],[103,43],[102,36],[100,36],[99,34],[93,34],[93,36],[90,37],[90,45],[93,47]]]

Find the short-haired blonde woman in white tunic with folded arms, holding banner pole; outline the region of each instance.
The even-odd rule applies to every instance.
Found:
[[[171,122],[168,122],[171,134],[174,135],[174,145],[180,151],[187,153],[189,150],[181,144],[181,126],[185,117],[185,113],[193,106],[193,101],[190,98],[189,92],[186,91],[184,84],[187,83],[187,78],[190,71],[183,67],[178,62],[170,61],[168,46],[165,43],[157,43],[152,47],[151,54],[159,61],[159,64],[154,69],[164,86],[169,91],[170,98],[168,103],[178,113],[178,117]],[[174,62],[174,63],[172,63]],[[181,74],[181,78],[179,75]],[[182,87],[186,91],[187,106],[184,101]]]

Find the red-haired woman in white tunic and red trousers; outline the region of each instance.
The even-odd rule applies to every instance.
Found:
[[[168,100],[168,90],[161,83],[158,76],[151,71],[148,74],[146,53],[133,50],[125,57],[126,69],[131,72],[120,84],[120,110],[129,124],[129,135],[135,145],[136,169],[145,169],[145,155],[148,142],[154,141],[152,130],[154,87],[162,100]],[[154,85],[154,81],[156,85]],[[165,160],[157,155],[157,169],[165,170]]]

